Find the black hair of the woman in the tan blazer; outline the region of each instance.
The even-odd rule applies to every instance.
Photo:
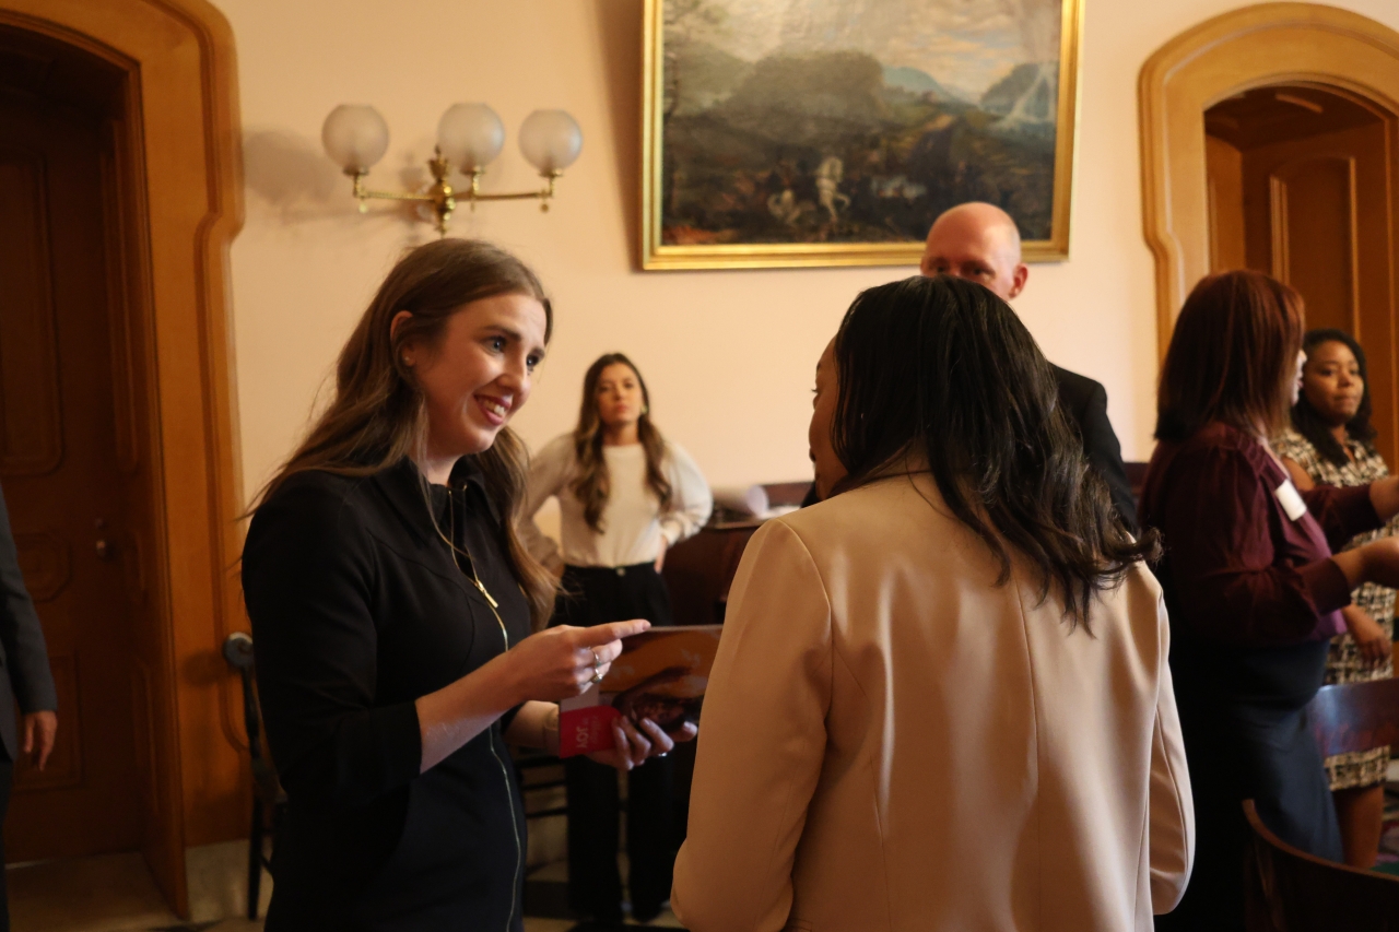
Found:
[[[961,278],[922,276],[860,292],[835,337],[835,491],[926,459],[953,515],[1010,579],[1007,544],[1063,595],[1070,630],[1093,598],[1154,560],[1132,537],[1059,406],[1049,362],[1010,306]],[[1091,630],[1090,630],[1091,633]]]

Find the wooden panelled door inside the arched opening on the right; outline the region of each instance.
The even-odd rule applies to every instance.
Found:
[[[1284,140],[1244,153],[1249,267],[1294,287],[1307,327],[1336,327],[1365,348],[1377,445],[1399,469],[1391,126]]]

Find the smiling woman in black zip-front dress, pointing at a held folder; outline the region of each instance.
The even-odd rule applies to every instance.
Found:
[[[525,451],[505,425],[551,323],[513,256],[420,246],[260,497],[243,592],[288,795],[269,932],[523,928],[505,744],[557,749],[553,702],[648,627],[541,630],[554,582],[515,536]],[[621,770],[673,746],[652,722],[614,736],[597,760]]]

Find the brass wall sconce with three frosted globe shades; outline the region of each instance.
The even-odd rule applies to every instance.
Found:
[[[483,195],[480,189],[485,167],[505,146],[505,125],[485,104],[456,104],[442,115],[436,148],[428,160],[432,183],[420,193],[368,190],[364,186],[364,176],[389,148],[389,126],[372,106],[341,104],[330,111],[320,129],[320,141],[326,154],[354,179],[360,213],[365,213],[365,202],[371,197],[425,202],[432,204],[438,232],[445,236],[459,200],[470,203],[471,210],[478,200],[539,200],[539,209],[547,211],[554,182],[583,148],[583,132],[564,111],[534,111],[525,118],[520,123],[520,151],[547,183],[539,190],[511,195]],[[469,189],[456,190],[448,183],[453,168],[470,176]]]

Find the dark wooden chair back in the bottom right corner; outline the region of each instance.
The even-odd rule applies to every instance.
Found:
[[[1399,929],[1399,877],[1314,858],[1293,848],[1244,800],[1248,932]]]

